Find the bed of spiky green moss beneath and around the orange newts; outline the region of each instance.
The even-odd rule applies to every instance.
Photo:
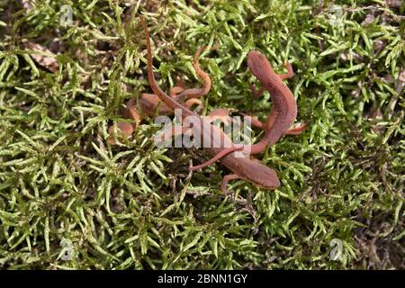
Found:
[[[0,3],[0,266],[404,268],[404,4],[37,3],[29,12]],[[71,25],[60,23],[63,4]],[[189,175],[197,150],[157,149],[153,119],[107,144],[122,103],[151,91],[138,12],[166,89],[179,77],[201,85],[193,52],[217,47],[200,61],[212,78],[207,111],[265,119],[271,102],[251,101],[247,52],[262,51],[279,72],[293,64],[287,84],[309,129],[260,156],[282,186],[229,184],[251,199],[257,222],[220,192],[224,166]],[[32,60],[24,40],[57,54],[58,71]],[[329,256],[333,239],[340,261]]]

